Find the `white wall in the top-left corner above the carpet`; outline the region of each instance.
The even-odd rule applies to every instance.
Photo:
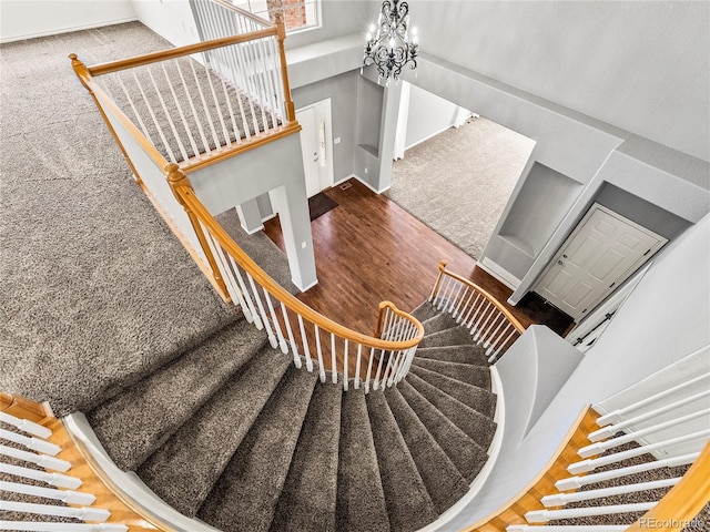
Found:
[[[135,20],[131,0],[0,0],[0,42]]]

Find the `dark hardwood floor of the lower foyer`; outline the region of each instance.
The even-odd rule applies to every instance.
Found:
[[[444,259],[448,269],[498,298],[523,326],[559,320],[550,309],[539,313],[508,305],[513,290],[476,267],[474,258],[357,180],[346,185],[351,186],[325,191],[338,206],[311,224],[318,284],[297,297],[318,313],[372,335],[379,303],[389,300],[406,311],[416,308],[428,297]],[[278,218],[264,226],[284,249]]]

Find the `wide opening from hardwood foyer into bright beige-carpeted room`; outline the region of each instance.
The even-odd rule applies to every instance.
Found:
[[[479,258],[535,141],[406,82],[397,117],[388,197]]]

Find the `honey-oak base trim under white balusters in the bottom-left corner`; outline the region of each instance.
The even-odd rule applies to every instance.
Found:
[[[98,473],[100,469],[93,463],[90,454],[83,450],[81,443],[72,438],[61,420],[53,419],[48,428],[52,430],[52,436],[48,441],[61,448],[57,458],[71,463],[71,469],[67,474],[81,479],[82,484],[79,491],[95,495],[97,500],[91,508],[102,508],[111,512],[106,523],[125,524],[130,532],[149,530],[176,532],[174,529],[166,526],[165,523],[151,523],[136,509],[132,508],[130,501],[123,500],[118,494],[119,492],[113,489],[110,479],[103,478]],[[79,508],[78,504],[69,505]]]

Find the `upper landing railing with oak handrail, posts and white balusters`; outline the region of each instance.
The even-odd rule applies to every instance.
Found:
[[[175,201],[165,167],[180,160],[182,168],[196,170],[297,133],[301,126],[281,20],[272,24],[224,2],[215,6],[207,9],[222,12],[221,23],[232,20],[239,34],[94,66],[77,54],[69,58],[133,177],[217,294],[229,300],[215,257],[196,222]]]

